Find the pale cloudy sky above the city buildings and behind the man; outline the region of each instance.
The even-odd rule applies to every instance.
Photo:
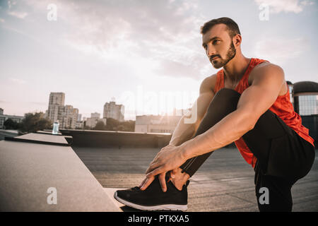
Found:
[[[0,108],[45,112],[49,93],[82,117],[105,102],[125,119],[191,107],[216,73],[200,27],[223,16],[245,57],[281,66],[285,79],[318,82],[316,0],[0,0]]]

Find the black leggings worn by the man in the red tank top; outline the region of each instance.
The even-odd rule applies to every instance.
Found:
[[[239,99],[240,93],[235,90],[227,88],[219,90],[213,97],[194,137],[206,132],[218,121],[234,112]],[[270,110],[262,114],[254,129],[245,133],[242,138],[249,150],[257,157],[254,170],[259,210],[291,211],[293,206],[291,186],[310,171],[314,163],[314,146],[298,136]],[[180,168],[192,177],[211,153],[193,157],[184,162]],[[264,187],[269,191],[269,203],[259,201],[259,198],[264,198],[262,196],[264,191],[261,189]]]

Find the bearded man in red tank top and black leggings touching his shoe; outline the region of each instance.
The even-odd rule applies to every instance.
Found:
[[[291,211],[290,189],[310,171],[314,141],[293,110],[283,69],[244,57],[240,30],[230,18],[208,21],[201,34],[211,64],[223,69],[201,83],[196,122],[182,117],[141,185],[116,191],[114,198],[141,210],[187,210],[189,177],[213,150],[235,141],[254,168],[259,210]],[[261,188],[269,192],[265,203]]]

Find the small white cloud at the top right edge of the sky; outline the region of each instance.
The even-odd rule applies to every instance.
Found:
[[[254,0],[258,5],[264,4],[269,6],[270,13],[300,13],[304,6],[310,6],[314,4],[314,1],[304,0]]]

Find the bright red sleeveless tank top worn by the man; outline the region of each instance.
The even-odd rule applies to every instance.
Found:
[[[261,64],[266,60],[264,59],[256,59],[252,58],[249,62],[249,66],[247,67],[247,70],[245,71],[245,74],[242,76],[240,83],[237,84],[235,90],[242,94],[243,91],[249,87],[249,73],[254,69],[254,66],[257,66],[257,64]],[[224,88],[224,71],[223,69],[218,71],[216,74],[216,85],[214,87],[214,93],[218,92],[221,88]],[[293,105],[290,102],[290,95],[289,90],[285,95],[278,96],[276,101],[271,105],[269,108],[271,112],[275,113],[280,117],[287,126],[289,126],[291,129],[293,129],[298,135],[305,139],[305,141],[308,141],[312,145],[314,145],[314,139],[312,139],[309,136],[309,130],[302,126],[302,119],[300,118],[300,115],[297,114],[294,109]],[[252,167],[255,167],[255,164],[257,162],[257,158],[253,155],[253,153],[249,150],[247,147],[245,141],[241,137],[237,141],[235,141],[235,145],[237,146],[238,150],[240,150],[240,153],[242,157],[245,159],[245,161],[252,165]]]

